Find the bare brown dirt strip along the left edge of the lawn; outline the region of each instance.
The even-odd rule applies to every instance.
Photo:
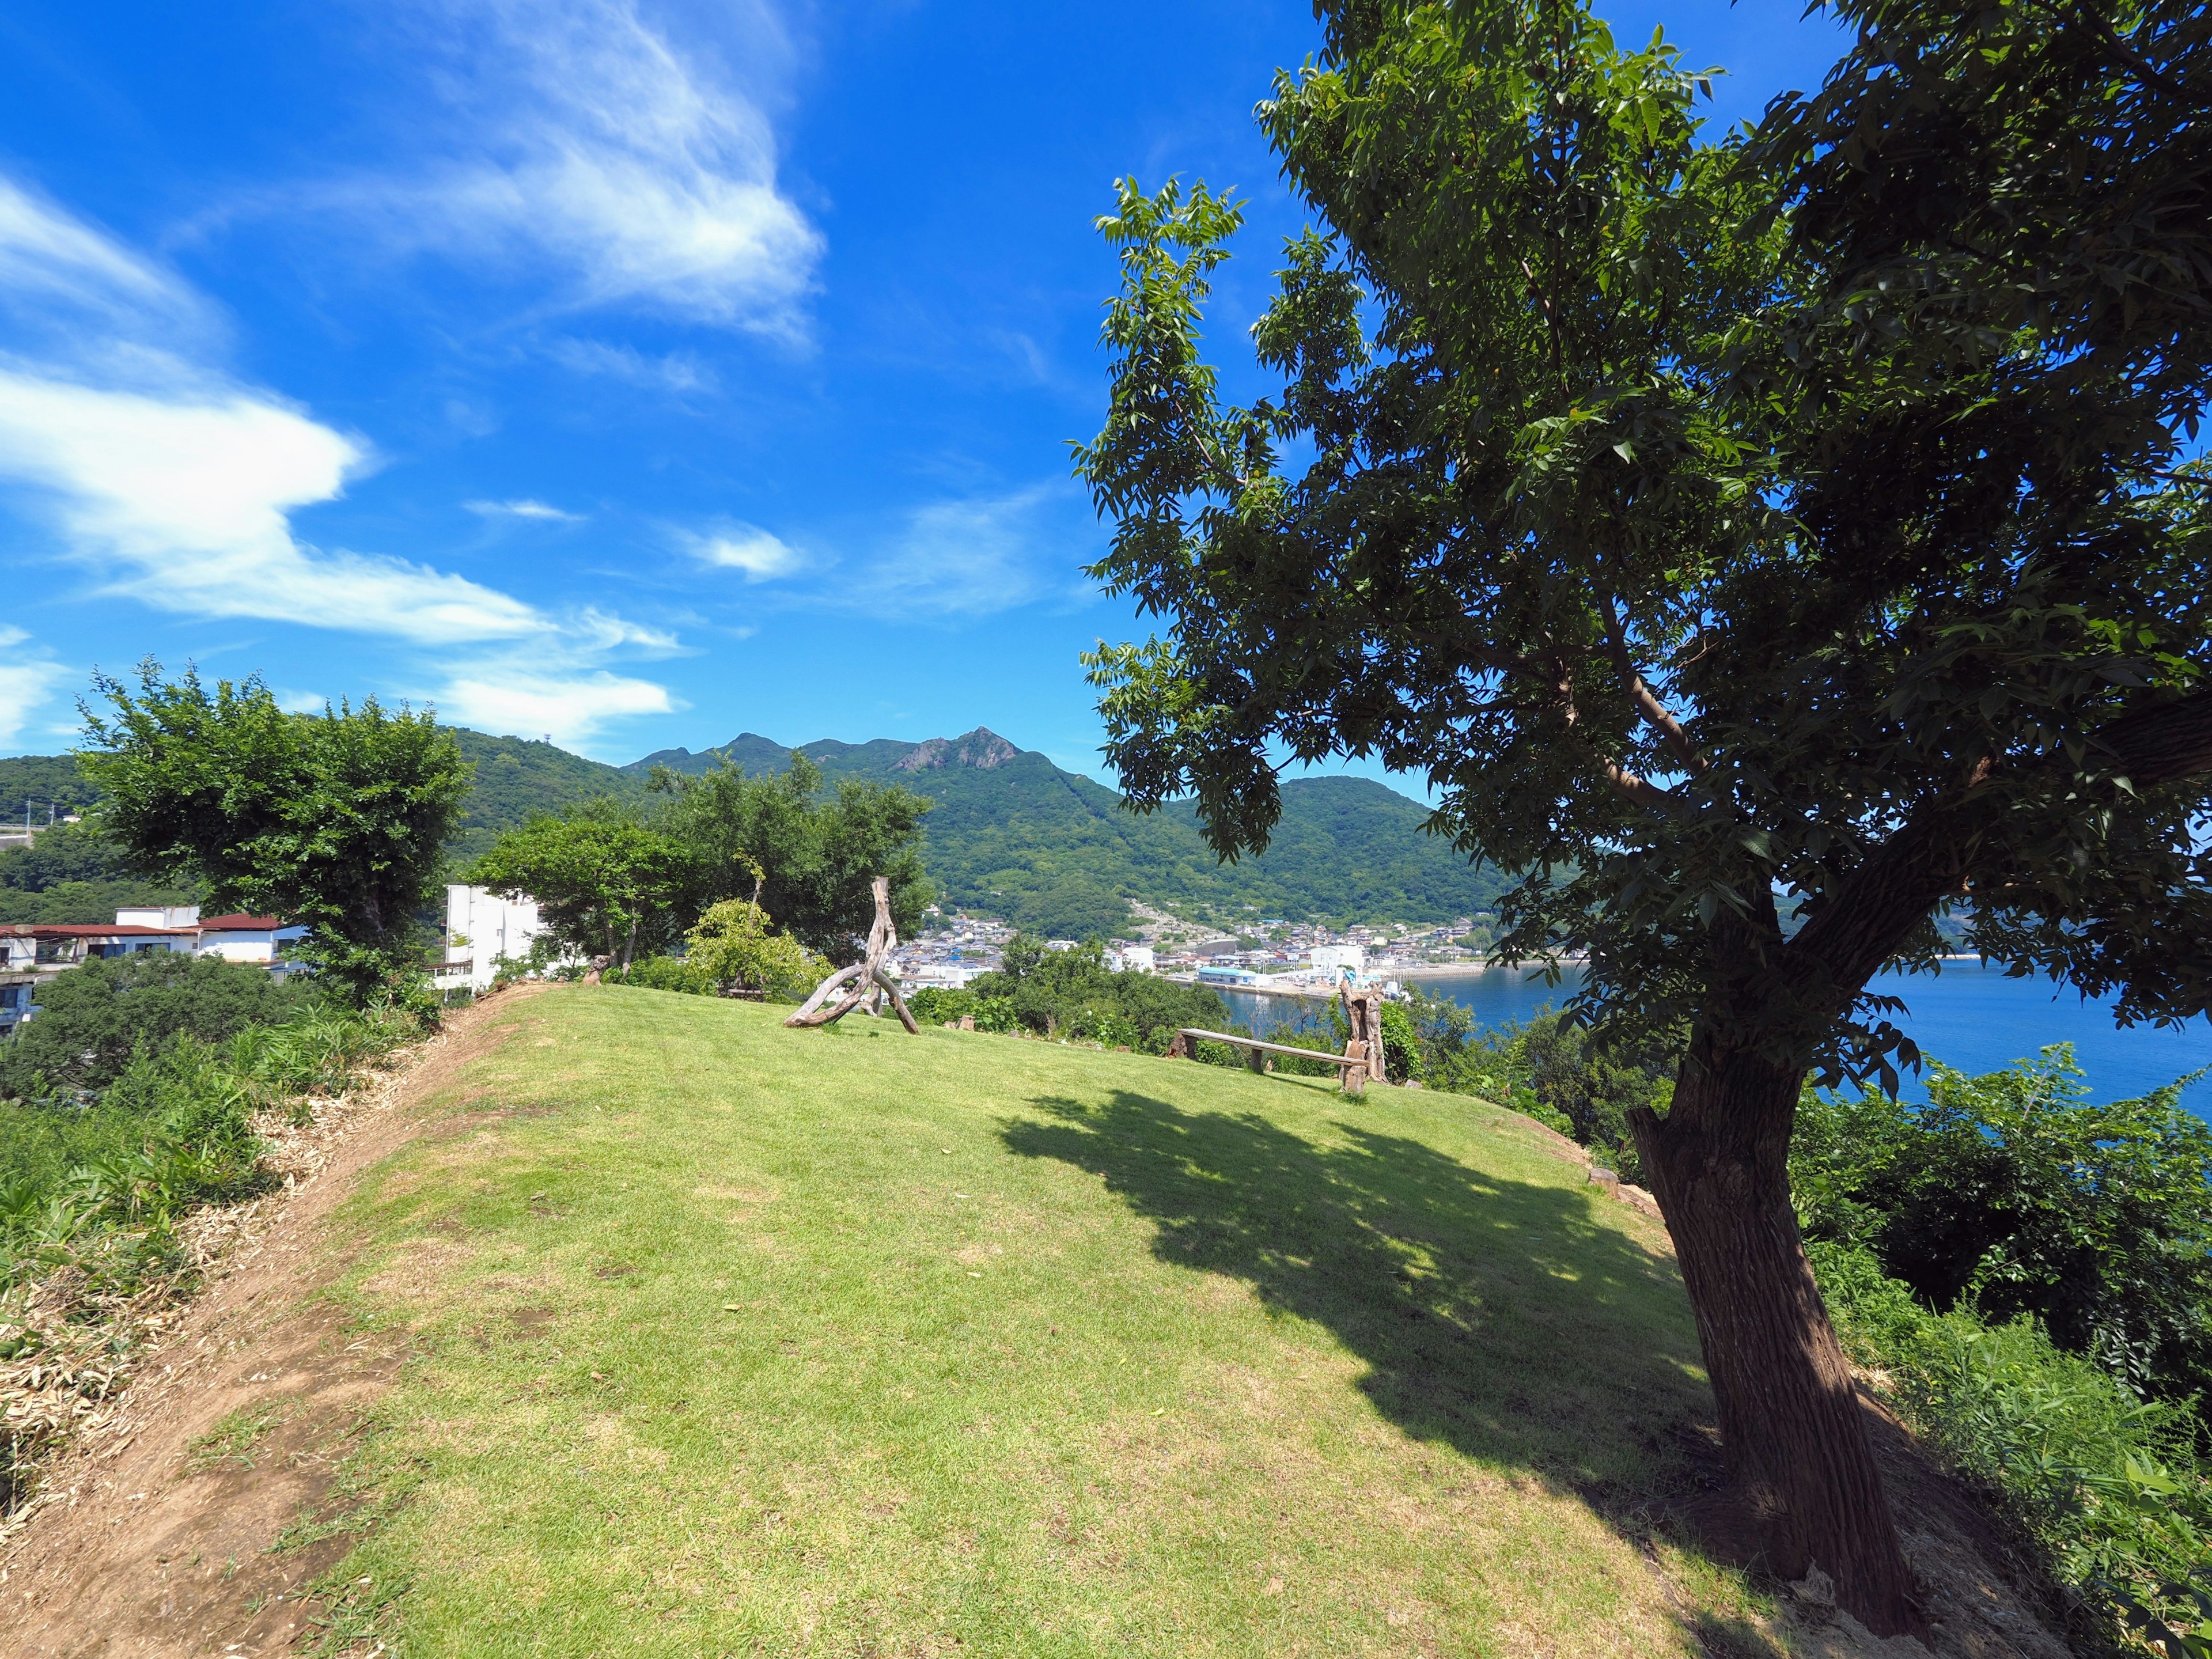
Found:
[[[0,1655],[272,1655],[316,1635],[305,1590],[352,1548],[332,1478],[407,1358],[316,1298],[343,1267],[332,1212],[427,1124],[502,1033],[518,987],[465,1009],[409,1064],[281,1146],[288,1186],[208,1217],[223,1252],[119,1402],[46,1473],[44,1509],[0,1557]],[[511,1029],[509,1029],[511,1031]]]

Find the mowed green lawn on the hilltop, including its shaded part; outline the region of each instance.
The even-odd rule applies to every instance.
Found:
[[[1650,1223],[1478,1102],[562,989],[347,1212],[409,1655],[1767,1652]],[[316,1526],[301,1528],[312,1535]],[[363,1584],[361,1579],[367,1579]]]

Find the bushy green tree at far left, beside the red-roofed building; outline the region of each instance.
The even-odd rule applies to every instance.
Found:
[[[296,956],[356,1002],[418,969],[422,911],[469,790],[429,710],[288,714],[259,677],[100,675],[77,763],[106,792],[97,827],[135,874],[204,880],[212,909],[307,927]]]

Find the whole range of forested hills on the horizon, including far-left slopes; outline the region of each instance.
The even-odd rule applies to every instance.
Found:
[[[759,774],[790,763],[787,745],[757,732],[701,754],[661,750],[626,768],[520,737],[462,728],[453,737],[476,765],[476,787],[453,841],[456,869],[535,812],[611,794],[641,799],[655,765],[706,772],[730,761]],[[832,785],[838,779],[902,783],[936,803],[922,827],[925,863],[949,905],[1064,938],[1128,933],[1130,900],[1221,925],[1276,916],[1427,922],[1489,909],[1502,887],[1495,872],[1469,869],[1449,843],[1420,832],[1422,805],[1367,779],[1285,783],[1283,823],[1267,854],[1221,865],[1206,849],[1192,807],[1139,818],[1121,810],[1113,790],[982,728],[927,743],[825,739],[803,745],[803,754]],[[0,761],[0,787],[40,803],[95,799],[66,754]],[[115,905],[146,902],[161,891],[119,880],[111,867],[95,869],[102,863],[95,849],[75,845],[73,836],[49,845],[53,858],[0,858],[0,920],[102,922],[113,918]],[[66,874],[60,869],[64,849]],[[164,896],[175,900],[175,894]]]

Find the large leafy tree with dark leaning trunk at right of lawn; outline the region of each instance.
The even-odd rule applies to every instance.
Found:
[[[1522,876],[1506,956],[1686,1046],[1635,1133],[1770,1566],[1878,1632],[1911,1582],[1805,1263],[1809,1071],[1918,1055],[1869,989],[1933,916],[2128,1020],[2205,1011],[2201,11],[1845,0],[1754,135],[1577,0],[1321,0],[1261,122],[1325,221],[1199,349],[1237,230],[1124,186],[1097,575],[1110,759],[1263,847],[1287,759],[1425,772]]]

